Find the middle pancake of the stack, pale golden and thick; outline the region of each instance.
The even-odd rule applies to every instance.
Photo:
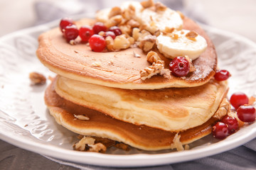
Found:
[[[135,125],[181,131],[205,123],[228,92],[226,81],[157,90],[117,89],[58,76],[55,91],[68,101]]]

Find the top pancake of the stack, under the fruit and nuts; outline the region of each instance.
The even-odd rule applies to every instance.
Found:
[[[76,25],[79,28],[82,25],[92,26],[93,23],[95,21],[92,19],[83,19]],[[172,75],[171,79],[166,79],[156,75],[142,80],[139,71],[151,64],[146,61],[146,54],[138,47],[119,52],[92,52],[90,47],[79,42],[80,40],[78,40],[78,44],[70,45],[63,38],[60,28],[54,28],[40,35],[36,53],[39,60],[55,73],[70,79],[102,86],[121,89],[162,89],[206,84],[215,74],[217,65],[215,47],[203,29],[191,19],[186,17],[183,19],[183,29],[196,31],[208,43],[206,51],[193,61],[196,71],[189,73],[185,79]],[[134,52],[141,57],[134,57]],[[159,55],[165,61],[165,67],[169,68],[171,60],[160,53]],[[99,63],[100,66],[95,66],[95,63]]]

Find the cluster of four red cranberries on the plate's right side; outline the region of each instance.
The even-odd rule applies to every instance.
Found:
[[[249,106],[249,98],[242,92],[237,92],[230,97],[231,105],[236,109],[238,118],[242,122],[250,123],[255,121],[255,107]],[[228,115],[213,126],[213,137],[218,140],[223,140],[228,135],[233,134],[238,130],[238,120]]]

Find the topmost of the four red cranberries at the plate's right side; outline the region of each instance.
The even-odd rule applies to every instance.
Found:
[[[235,92],[235,94],[230,97],[230,103],[235,109],[238,109],[239,106],[248,104],[249,98],[242,92]]]

